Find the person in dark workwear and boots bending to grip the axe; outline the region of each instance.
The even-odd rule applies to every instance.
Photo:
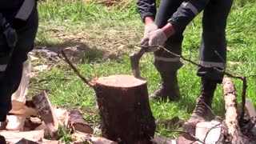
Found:
[[[167,98],[170,102],[180,98],[177,71],[182,66],[183,31],[203,11],[202,42],[200,45],[197,75],[202,77],[202,90],[194,112],[188,122],[210,120],[211,103],[218,83],[222,82],[220,72],[226,66],[226,21],[232,0],[161,0],[158,12],[155,0],[137,0],[138,11],[145,23],[141,45],[154,52],[154,66],[162,81],[151,99]],[[163,46],[166,50],[159,48]]]

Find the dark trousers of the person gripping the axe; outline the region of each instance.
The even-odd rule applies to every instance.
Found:
[[[159,28],[165,26],[172,14],[181,6],[183,0],[162,0],[155,22]],[[198,76],[222,82],[223,74],[212,67],[223,70],[226,66],[226,19],[230,13],[232,0],[210,0],[203,10],[202,42],[199,63],[207,68],[198,68]],[[182,54],[183,31],[179,30],[167,39],[165,47],[175,54]],[[161,73],[178,70],[182,66],[179,58],[164,50],[154,53],[154,66]]]

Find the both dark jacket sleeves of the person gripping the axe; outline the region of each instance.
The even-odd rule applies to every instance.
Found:
[[[182,2],[182,5],[178,7],[168,22],[174,26],[175,31],[184,30],[194,17],[204,10],[208,2],[210,0],[186,0]],[[155,0],[137,0],[137,6],[142,20],[147,16],[155,17]]]

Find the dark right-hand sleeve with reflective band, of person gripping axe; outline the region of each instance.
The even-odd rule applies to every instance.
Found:
[[[185,30],[186,26],[197,16],[210,0],[189,0],[182,2],[178,10],[168,20],[173,26],[174,30]],[[213,12],[214,13],[214,12]]]

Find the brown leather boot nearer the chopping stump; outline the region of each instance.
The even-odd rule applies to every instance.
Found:
[[[166,102],[167,98],[171,102],[178,101],[180,99],[180,91],[178,87],[177,71],[173,71],[169,74],[161,74],[162,81],[158,90],[155,90],[153,94],[150,94],[151,100],[161,100]]]

